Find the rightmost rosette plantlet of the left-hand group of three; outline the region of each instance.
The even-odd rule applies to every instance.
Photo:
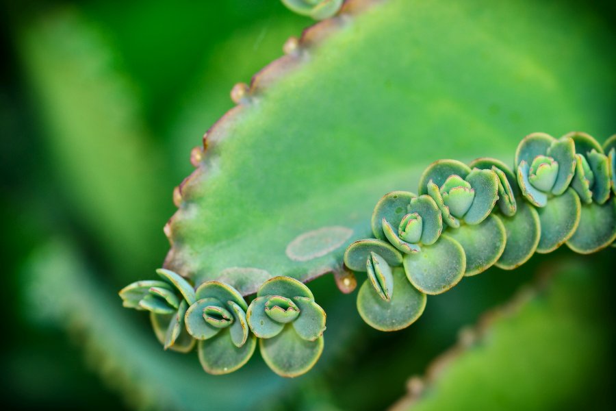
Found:
[[[261,356],[283,377],[309,371],[323,351],[325,312],[310,289],[291,277],[273,277],[261,285],[246,312],[259,337]]]

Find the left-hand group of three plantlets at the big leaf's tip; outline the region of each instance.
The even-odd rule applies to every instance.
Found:
[[[173,271],[163,281],[146,280],[120,290],[123,305],[150,312],[165,349],[192,351],[210,374],[231,373],[250,360],[257,346],[277,374],[296,377],[312,368],[323,351],[325,312],[305,284],[273,277],[248,305],[229,284],[208,281],[193,288]]]

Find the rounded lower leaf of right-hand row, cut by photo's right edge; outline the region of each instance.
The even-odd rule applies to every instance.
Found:
[[[607,247],[616,240],[616,199],[603,204],[582,205],[580,224],[567,246],[580,254],[589,254]]]

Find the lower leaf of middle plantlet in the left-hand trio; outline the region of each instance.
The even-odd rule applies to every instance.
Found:
[[[231,340],[229,328],[218,335],[199,341],[197,351],[199,362],[206,373],[220,375],[239,369],[251,359],[257,347],[257,338],[248,336],[246,344],[236,347]]]

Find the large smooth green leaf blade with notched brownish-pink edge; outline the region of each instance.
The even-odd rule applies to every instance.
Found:
[[[433,160],[510,163],[530,132],[615,127],[614,61],[595,52],[610,37],[568,5],[392,0],[306,36],[210,130],[167,227],[168,268],[307,280],[339,266],[376,201],[415,190]]]

